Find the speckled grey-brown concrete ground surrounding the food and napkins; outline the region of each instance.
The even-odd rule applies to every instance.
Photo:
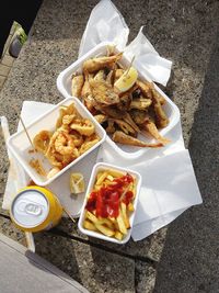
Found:
[[[0,93],[11,131],[24,100],[56,103],[58,74],[77,59],[85,23],[97,1],[45,0]],[[35,236],[37,252],[91,292],[218,292],[218,1],[114,1],[130,27],[146,24],[161,56],[173,60],[164,90],[178,105],[204,204],[189,209],[142,241],[118,247],[81,235],[71,221]],[[0,192],[8,159],[0,146]],[[3,211],[1,212],[3,214]],[[1,230],[23,241],[7,215]]]

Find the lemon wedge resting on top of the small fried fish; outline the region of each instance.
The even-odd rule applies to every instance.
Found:
[[[119,77],[114,86],[119,92],[125,92],[134,86],[137,78],[138,71],[134,67],[130,67],[130,69],[127,69],[123,76]]]

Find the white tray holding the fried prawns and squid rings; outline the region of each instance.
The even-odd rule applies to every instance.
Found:
[[[57,179],[65,171],[67,171],[72,166],[74,166],[78,161],[84,158],[88,154],[90,154],[92,150],[94,150],[97,146],[100,146],[105,140],[105,137],[106,137],[105,131],[95,121],[95,119],[91,115],[91,113],[87,110],[87,108],[78,99],[66,94],[65,100],[54,105],[51,110],[47,111],[45,114],[34,120],[30,125],[26,125],[26,129],[32,142],[33,142],[34,136],[38,134],[41,131],[45,129],[45,131],[54,132],[56,127],[56,121],[58,120],[58,116],[59,116],[60,106],[61,105],[68,106],[72,102],[74,103],[76,109],[81,114],[81,116],[89,119],[94,124],[95,132],[100,136],[101,139],[97,142],[97,144],[92,146],[90,149],[88,149],[84,154],[82,154],[76,160],[67,165],[64,169],[61,169],[58,173],[56,173],[50,179],[47,179],[46,177],[38,174],[36,170],[30,166],[30,160],[34,158],[34,159],[41,160],[46,171],[49,171],[49,169],[51,168],[51,165],[49,164],[47,158],[45,158],[45,156],[41,154],[39,151],[37,151],[36,154],[35,153],[30,154],[30,150],[33,149],[33,147],[24,129],[13,134],[7,142],[8,147],[13,154],[13,156],[15,157],[15,159],[21,164],[21,166],[24,168],[24,170],[27,172],[27,174],[37,185],[42,185],[42,187],[48,185],[55,179]]]

